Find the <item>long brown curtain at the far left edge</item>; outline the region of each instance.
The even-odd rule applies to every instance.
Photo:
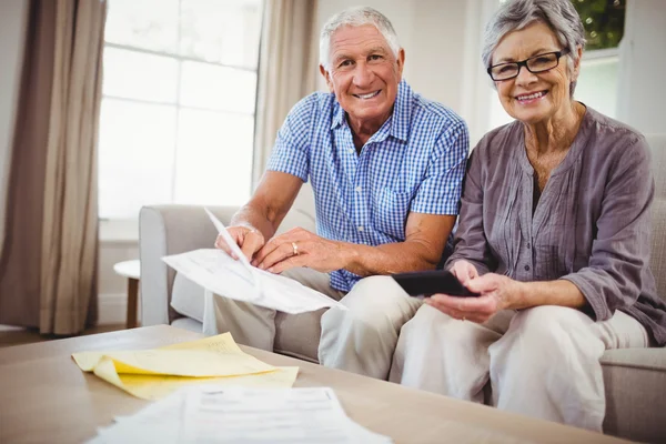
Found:
[[[97,319],[97,139],[107,3],[33,0],[0,260],[0,323]]]

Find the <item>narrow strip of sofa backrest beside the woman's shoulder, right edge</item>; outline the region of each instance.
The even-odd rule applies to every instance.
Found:
[[[650,269],[657,281],[657,293],[666,301],[666,134],[646,135],[652,150],[655,200],[652,208]]]

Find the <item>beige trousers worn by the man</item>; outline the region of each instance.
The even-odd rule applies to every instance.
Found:
[[[339,300],[349,310],[330,309],[321,320],[321,364],[386,380],[401,327],[422,302],[410,297],[389,276],[365,278],[345,295],[329,285],[329,275],[311,269],[284,273]],[[231,332],[236,342],[273,351],[275,311],[205,293],[203,332]]]

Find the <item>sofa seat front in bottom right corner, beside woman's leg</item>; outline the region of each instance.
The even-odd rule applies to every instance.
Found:
[[[645,442],[666,437],[666,349],[608,350],[602,356],[606,391],[604,433]]]

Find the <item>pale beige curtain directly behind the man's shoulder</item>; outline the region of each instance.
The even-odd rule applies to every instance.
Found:
[[[263,174],[291,108],[315,90],[319,75],[316,0],[265,0],[252,183]]]

